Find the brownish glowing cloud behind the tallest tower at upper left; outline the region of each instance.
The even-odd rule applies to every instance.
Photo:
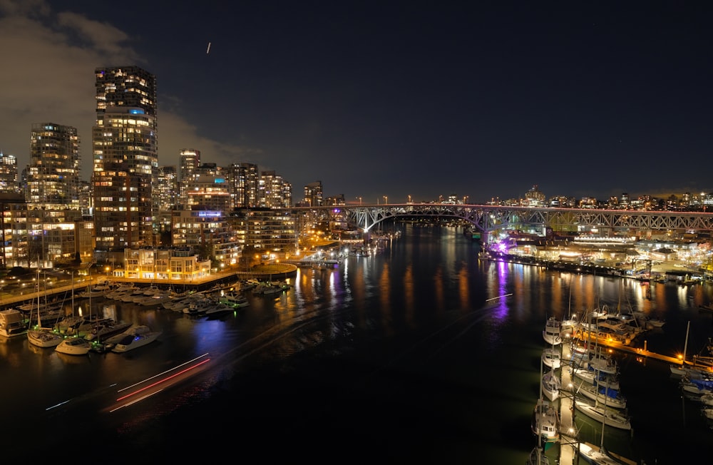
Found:
[[[130,36],[115,26],[82,14],[52,11],[39,0],[0,0],[0,44],[4,49],[0,150],[16,155],[22,170],[30,162],[33,124],[74,126],[81,141],[82,178],[88,180],[91,127],[96,118],[94,69],[143,66],[145,58],[132,48]],[[202,137],[195,125],[168,112],[159,113],[159,144],[162,165],[178,164],[181,148],[216,154],[220,164],[235,163],[241,154],[250,153]]]

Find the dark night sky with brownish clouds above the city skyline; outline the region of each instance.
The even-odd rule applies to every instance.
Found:
[[[160,165],[257,163],[295,201],[317,180],[348,203],[710,192],[712,12],[0,0],[0,150],[21,169],[33,123],[75,126],[88,180],[94,69],[136,65],[158,81]]]

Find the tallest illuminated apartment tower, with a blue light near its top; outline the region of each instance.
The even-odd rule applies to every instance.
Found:
[[[96,68],[95,74],[92,185],[96,247],[123,250],[154,245],[156,78],[136,66]]]

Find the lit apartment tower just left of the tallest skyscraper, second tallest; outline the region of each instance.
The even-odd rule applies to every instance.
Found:
[[[77,129],[55,123],[32,125],[26,199],[47,208],[79,209]]]

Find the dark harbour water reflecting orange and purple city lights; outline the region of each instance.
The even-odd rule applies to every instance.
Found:
[[[461,230],[396,227],[383,252],[300,269],[288,292],[250,296],[220,320],[93,300],[93,312],[163,331],[134,352],[70,357],[0,340],[4,458],[523,464],[548,316],[631,305],[666,320],[645,336],[666,354],[682,352],[688,321],[689,354],[713,336],[697,310],[710,285],[479,262]],[[710,456],[713,431],[667,364],[617,357],[634,433],[605,430],[605,446],[647,464]],[[580,415],[578,426],[600,444],[600,425]]]

